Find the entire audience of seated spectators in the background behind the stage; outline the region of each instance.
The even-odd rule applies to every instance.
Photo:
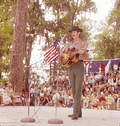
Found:
[[[43,89],[30,86],[31,106],[57,106],[73,107],[74,100],[67,74],[56,76],[53,85],[46,85]],[[14,100],[12,84],[0,83],[0,104],[11,105]],[[21,93],[21,105],[28,105],[28,94],[25,90]],[[120,110],[120,75],[117,73],[101,75],[91,73],[85,75],[82,86],[82,106],[92,109],[111,109],[111,105],[116,105]]]

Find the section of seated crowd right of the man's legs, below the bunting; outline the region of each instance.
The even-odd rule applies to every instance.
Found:
[[[87,103],[86,107],[88,106],[86,99],[88,99],[91,108],[110,109],[114,104],[114,109],[120,109],[120,76],[116,72],[107,75],[92,73],[86,76],[82,93],[83,103],[84,99]]]

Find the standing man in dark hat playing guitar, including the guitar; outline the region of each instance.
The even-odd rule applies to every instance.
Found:
[[[84,81],[83,60],[88,56],[88,46],[84,41],[81,41],[80,35],[83,30],[78,26],[73,26],[69,32],[71,32],[73,42],[69,42],[60,51],[60,56],[63,62],[62,64],[68,68],[70,86],[74,99],[73,114],[68,116],[72,117],[72,120],[76,120],[82,117],[81,95],[82,82]]]

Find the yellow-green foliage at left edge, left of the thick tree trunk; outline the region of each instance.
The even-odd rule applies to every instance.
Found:
[[[8,78],[5,79],[2,75],[3,73],[6,76],[9,75],[10,48],[13,35],[11,6],[11,2],[6,3],[4,1],[0,6],[0,81],[8,81]]]

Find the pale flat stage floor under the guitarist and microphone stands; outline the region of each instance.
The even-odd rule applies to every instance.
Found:
[[[25,123],[21,119],[28,118],[27,106],[0,107],[0,126],[120,126],[120,111],[82,109],[83,117],[71,120],[73,108],[30,106],[29,118],[34,115],[35,122]],[[59,119],[63,124],[50,124],[49,120]]]

